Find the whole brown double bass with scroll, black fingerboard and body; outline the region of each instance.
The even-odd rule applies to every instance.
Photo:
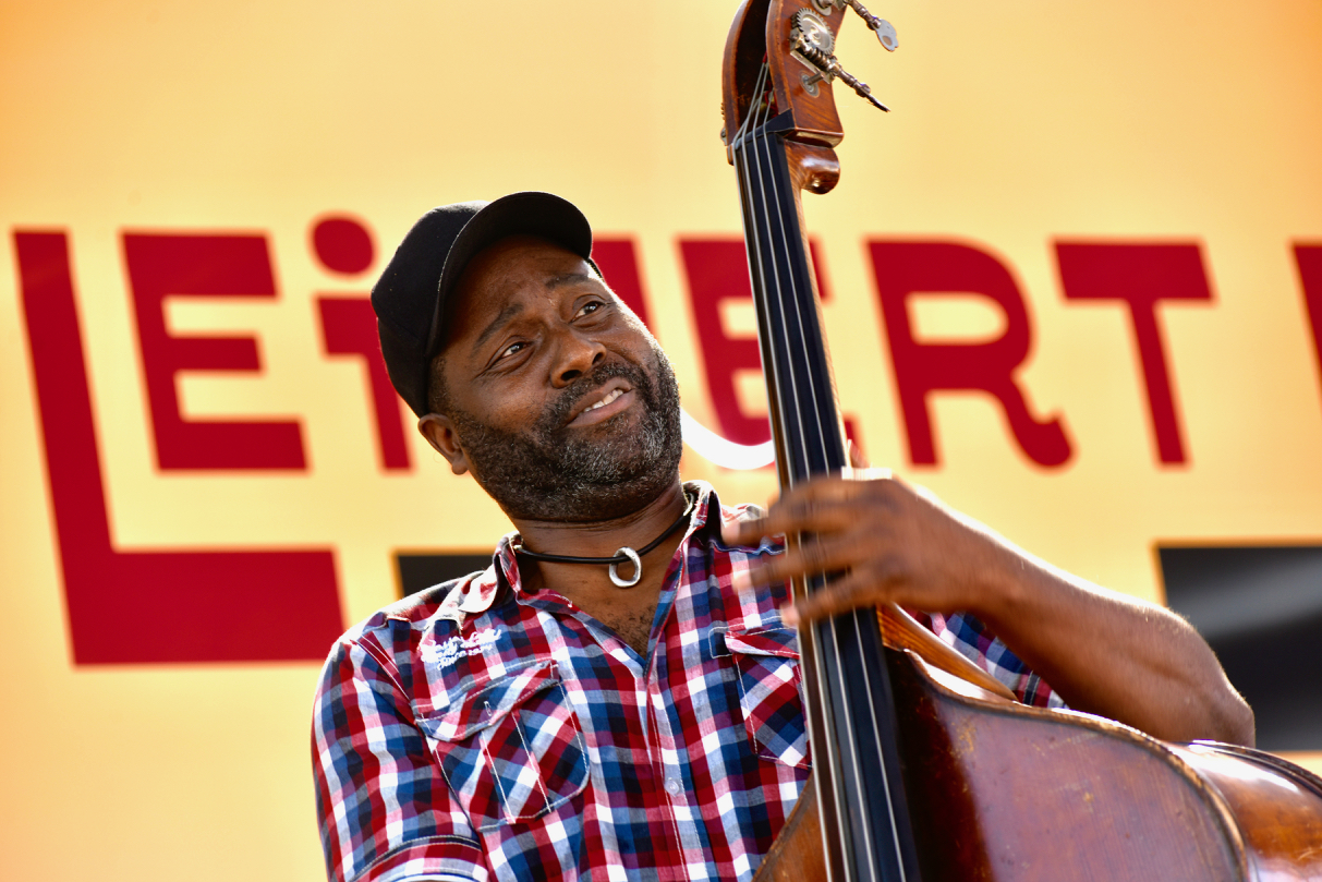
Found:
[[[834,56],[850,11],[895,49],[859,0],[746,0],[723,60],[783,488],[849,467],[801,193],[839,179],[833,87],[884,110]],[[894,606],[801,627],[800,659],[812,782],[755,882],[1322,879],[1322,780],[1276,756],[1027,707]]]

